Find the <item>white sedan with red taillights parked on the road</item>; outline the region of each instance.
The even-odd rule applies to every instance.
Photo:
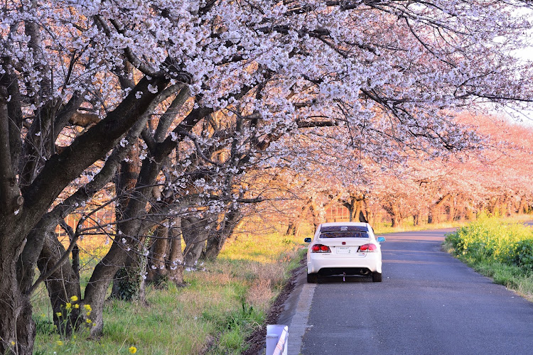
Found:
[[[381,246],[384,237],[376,238],[368,223],[334,222],[318,226],[314,238],[306,238],[307,282],[318,276],[367,275],[382,280]]]

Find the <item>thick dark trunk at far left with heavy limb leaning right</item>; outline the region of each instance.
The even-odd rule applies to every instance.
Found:
[[[14,95],[7,95],[4,87],[4,81],[9,77],[9,71],[0,76],[0,353],[11,351],[16,354],[31,354],[35,325],[31,319],[30,293],[26,290],[26,283],[31,280],[27,275],[33,272],[41,252],[38,249],[39,243],[36,243],[30,234],[31,229],[53,205],[60,192],[80,176],[83,170],[101,159],[115,146],[125,131],[138,121],[139,115],[144,114],[156,97],[156,94],[147,91],[148,86],[155,84],[160,92],[168,84],[168,80],[141,79],[137,86],[146,94],[140,99],[134,94],[126,97],[106,118],[75,138],[69,149],[51,156],[44,155],[47,160],[38,174],[32,175],[34,180],[25,180],[26,177],[22,175],[19,175],[19,180],[15,168],[23,164],[23,159],[42,159],[40,153],[35,157],[22,157],[20,151],[15,151],[18,150],[16,146],[20,148],[21,130],[18,129],[18,124],[21,122],[18,122],[18,118],[21,116],[8,112],[13,111],[16,106],[16,103],[11,103],[8,109],[6,105],[9,96],[11,101],[16,99]],[[9,80],[9,87],[16,87],[16,80]],[[34,120],[34,124],[38,122]],[[48,142],[51,143],[50,148],[53,141],[54,139],[50,139]],[[14,142],[13,146],[10,146],[10,142]],[[17,158],[19,156],[20,158]],[[19,163],[15,164],[17,161]],[[20,181],[22,192],[18,188]],[[37,247],[34,250],[37,256],[35,259],[28,258],[21,262],[20,265],[29,271],[17,273],[16,264],[26,242]],[[25,275],[25,280],[18,280],[18,274]],[[110,280],[111,276],[107,280]],[[89,288],[96,285],[89,285]],[[103,300],[101,304],[103,307]],[[101,330],[101,325],[100,320],[100,327],[94,329]]]

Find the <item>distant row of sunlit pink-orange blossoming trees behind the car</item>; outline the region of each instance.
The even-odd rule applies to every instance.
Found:
[[[359,172],[360,182],[348,180],[350,165],[315,164],[308,172],[282,173],[298,204],[276,202],[269,215],[288,220],[288,234],[303,222],[333,220],[389,222],[399,226],[472,220],[480,212],[509,216],[533,207],[533,131],[496,116],[458,114],[485,136],[483,148],[454,153],[445,159],[402,156],[402,165],[384,168],[369,160]],[[290,200],[289,195],[285,195]],[[339,207],[347,209],[343,212]],[[332,209],[333,208],[333,209]],[[330,212],[334,210],[335,212]]]

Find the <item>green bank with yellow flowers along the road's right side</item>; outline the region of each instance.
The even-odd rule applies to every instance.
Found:
[[[475,271],[533,301],[532,227],[481,217],[448,234],[444,246]]]

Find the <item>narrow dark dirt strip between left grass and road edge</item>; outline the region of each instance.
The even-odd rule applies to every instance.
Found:
[[[289,278],[289,280],[287,280],[287,283],[281,289],[281,293],[279,293],[278,297],[276,297],[276,300],[274,300],[274,303],[270,307],[269,314],[266,316],[264,324],[262,324],[260,327],[257,327],[257,329],[252,333],[252,335],[250,335],[248,339],[246,339],[246,344],[249,344],[249,348],[246,351],[243,351],[241,353],[242,355],[257,355],[259,354],[259,351],[264,349],[266,338],[266,324],[278,323],[279,315],[281,315],[281,312],[283,312],[285,309],[285,301],[287,300],[287,298],[289,298],[289,295],[291,295],[292,290],[294,290],[294,287],[296,285],[296,278],[298,278],[298,273],[305,266],[306,256],[304,255],[303,258],[301,258],[300,266],[291,271],[291,277]]]

